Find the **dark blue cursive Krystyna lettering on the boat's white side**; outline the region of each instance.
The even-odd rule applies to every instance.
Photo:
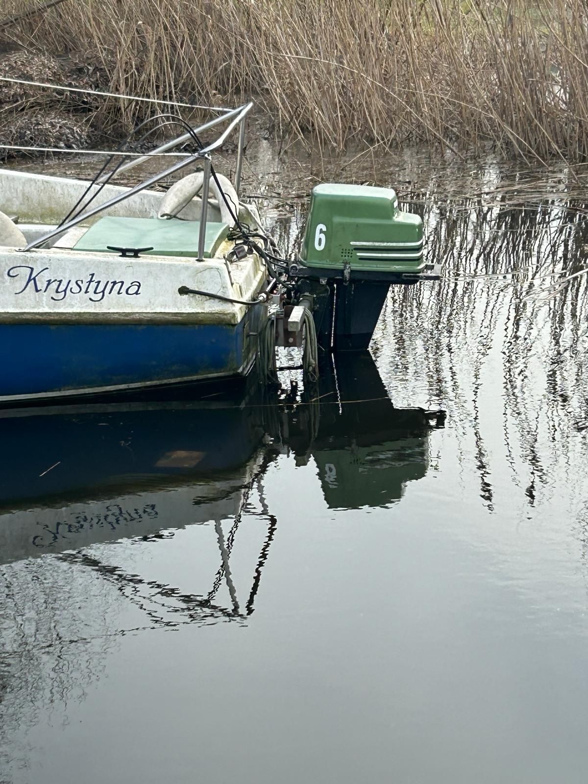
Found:
[[[67,281],[64,281],[64,278],[41,278],[41,275],[48,270],[49,267],[43,267],[42,270],[35,272],[34,267],[20,264],[18,267],[10,267],[6,274],[9,278],[20,278],[19,282],[22,285],[15,294],[23,294],[30,289],[36,294],[49,293],[55,302],[60,302],[70,294],[83,294],[88,296],[90,302],[100,302],[111,294],[133,296],[141,293],[139,281],[131,281],[129,284],[125,281],[101,281],[96,279],[93,272],[88,278],[80,278],[77,281],[72,281],[71,278]]]

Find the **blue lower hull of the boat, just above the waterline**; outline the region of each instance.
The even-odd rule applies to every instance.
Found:
[[[249,314],[238,325],[0,325],[0,404],[245,376]]]

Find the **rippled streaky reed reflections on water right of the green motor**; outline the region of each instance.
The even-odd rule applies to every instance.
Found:
[[[428,254],[445,278],[430,292],[390,292],[376,355],[405,383],[418,374],[428,400],[458,413],[462,456],[474,460],[490,510],[497,462],[531,506],[555,483],[583,486],[585,214],[582,203],[512,195],[491,206],[433,200],[423,210]],[[400,378],[391,383],[397,389]]]

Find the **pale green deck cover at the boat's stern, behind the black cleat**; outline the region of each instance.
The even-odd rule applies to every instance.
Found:
[[[206,259],[215,256],[221,242],[227,238],[227,223],[206,222]],[[198,234],[200,222],[170,218],[100,218],[85,232],[74,248],[76,250],[107,250],[107,245],[117,248],[149,248],[150,256],[189,256],[198,257]]]

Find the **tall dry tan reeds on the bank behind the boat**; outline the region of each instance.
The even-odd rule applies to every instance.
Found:
[[[2,10],[31,5],[3,0]],[[70,0],[8,32],[95,62],[113,91],[252,96],[282,133],[338,148],[588,154],[586,0]],[[113,101],[103,111],[132,125],[138,110]]]

